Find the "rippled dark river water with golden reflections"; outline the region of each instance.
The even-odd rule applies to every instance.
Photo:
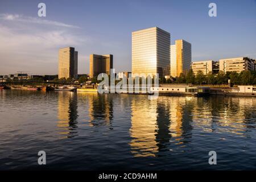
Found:
[[[255,122],[253,97],[0,90],[0,169],[256,169]]]

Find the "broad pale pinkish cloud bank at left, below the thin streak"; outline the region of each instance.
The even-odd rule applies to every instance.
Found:
[[[27,27],[20,32],[0,23],[0,75],[28,70],[34,74],[56,74],[57,55],[61,47],[86,44],[86,38],[67,30],[40,30]],[[49,65],[51,65],[49,67]]]

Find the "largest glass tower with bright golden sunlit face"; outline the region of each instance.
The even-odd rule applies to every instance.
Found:
[[[132,73],[170,75],[170,33],[158,28],[132,32]]]

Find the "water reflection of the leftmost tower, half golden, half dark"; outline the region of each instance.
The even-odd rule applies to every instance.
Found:
[[[75,137],[77,128],[77,95],[74,92],[58,92],[59,110],[57,127],[64,138]]]

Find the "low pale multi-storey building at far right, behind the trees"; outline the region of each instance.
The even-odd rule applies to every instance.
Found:
[[[255,60],[249,57],[234,57],[228,59],[220,59],[220,71],[226,72],[237,72],[242,71],[254,71]]]

